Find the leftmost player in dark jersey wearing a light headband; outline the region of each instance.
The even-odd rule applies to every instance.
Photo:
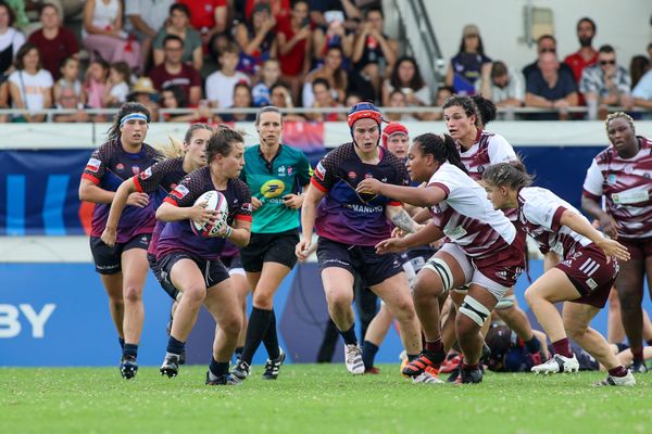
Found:
[[[111,317],[123,347],[120,370],[127,380],[138,370],[136,358],[145,320],[142,288],[148,270],[147,248],[154,229],[149,195],[129,195],[125,218],[116,229],[114,246],[104,244],[100,237],[120,184],[151,166],[160,156],[145,143],[149,122],[150,113],[143,105],[123,104],[109,130],[109,140],[92,153],[79,182],[79,200],[96,204],[90,250],[96,271],[109,294]]]

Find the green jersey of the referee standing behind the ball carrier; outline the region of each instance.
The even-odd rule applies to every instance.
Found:
[[[251,232],[278,233],[299,227],[299,209],[285,206],[283,197],[299,192],[310,182],[312,169],[305,154],[287,144],[267,162],[260,144],[244,151],[244,168],[240,178],[249,184],[251,195],[263,204],[253,212]]]

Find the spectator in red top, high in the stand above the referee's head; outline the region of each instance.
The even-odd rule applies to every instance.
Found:
[[[310,69],[312,28],[306,0],[292,2],[290,17],[277,27],[278,62],[281,79],[290,85],[293,101],[299,100],[303,77]]]

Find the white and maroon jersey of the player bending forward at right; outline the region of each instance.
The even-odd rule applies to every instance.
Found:
[[[578,248],[591,244],[588,238],[561,225],[562,214],[566,209],[589,224],[589,220],[573,205],[550,190],[526,187],[518,191],[518,224],[535,239],[542,253],[553,251],[562,258],[566,258]]]

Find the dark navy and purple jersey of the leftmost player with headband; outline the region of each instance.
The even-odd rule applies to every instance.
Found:
[[[139,152],[130,153],[123,149],[120,139],[108,141],[98,148],[86,164],[82,178],[108,191],[116,191],[120,184],[140,170],[151,166],[160,154],[149,144],[142,143]],[[92,212],[91,237],[101,237],[106,226],[111,204],[96,204]],[[117,224],[116,242],[124,243],[141,233],[152,233],[154,208],[150,201],[147,206],[127,205]]]

